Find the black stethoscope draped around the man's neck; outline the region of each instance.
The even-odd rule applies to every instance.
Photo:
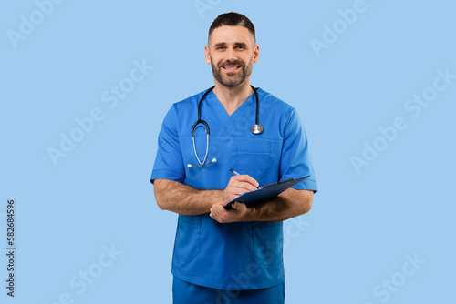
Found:
[[[212,163],[215,163],[217,161],[216,158],[213,158],[211,162],[207,163],[206,164],[206,159],[207,159],[207,154],[209,152],[209,125],[201,119],[201,104],[202,104],[202,100],[204,100],[204,98],[209,94],[211,93],[211,91],[213,90],[215,86],[212,86],[210,89],[208,89],[201,97],[200,99],[200,104],[198,105],[198,120],[194,123],[193,127],[192,127],[192,141],[193,141],[193,151],[195,152],[195,157],[196,159],[198,159],[198,162],[200,163],[200,166],[192,166],[191,164],[188,164],[187,167],[195,167],[195,168],[199,168],[199,167],[204,167],[204,166],[209,166],[211,165]],[[255,115],[255,124],[254,126],[252,126],[250,128],[250,130],[252,131],[253,134],[261,134],[263,133],[264,131],[264,127],[262,125],[260,125],[258,123],[258,111],[259,111],[259,101],[258,101],[258,93],[256,92],[256,88],[254,88],[254,86],[251,85],[251,87],[254,89],[254,93],[255,93],[255,99],[256,99],[256,115]],[[202,125],[200,125],[202,124]],[[198,153],[196,153],[196,146],[195,146],[195,129],[197,127],[202,127],[204,126],[206,128],[206,155],[204,156],[204,159],[201,161],[200,160],[200,157],[198,157]]]

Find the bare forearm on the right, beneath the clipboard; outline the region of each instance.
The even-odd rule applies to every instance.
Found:
[[[289,188],[270,201],[247,208],[244,221],[276,222],[307,213],[312,207],[314,192]]]

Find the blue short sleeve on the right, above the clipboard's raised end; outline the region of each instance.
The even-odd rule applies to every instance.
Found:
[[[287,178],[307,177],[296,184],[295,189],[317,191],[314,166],[308,151],[306,131],[293,108],[285,124],[284,143],[280,160],[281,180]]]

